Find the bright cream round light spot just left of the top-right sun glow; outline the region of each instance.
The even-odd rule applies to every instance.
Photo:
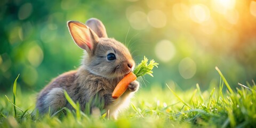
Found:
[[[190,8],[190,18],[197,23],[202,23],[210,19],[210,11],[203,4],[193,5]]]

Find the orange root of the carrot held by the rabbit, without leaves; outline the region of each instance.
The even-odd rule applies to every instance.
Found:
[[[118,97],[120,97],[128,88],[128,85],[131,82],[135,81],[136,79],[137,79],[136,75],[133,74],[132,72],[124,76],[124,78],[116,85],[116,88],[112,93],[112,97],[114,99],[117,99]]]

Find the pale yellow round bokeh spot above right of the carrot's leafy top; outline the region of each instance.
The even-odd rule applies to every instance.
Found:
[[[170,61],[175,54],[176,50],[172,42],[164,39],[156,44],[155,53],[156,57],[163,62]]]

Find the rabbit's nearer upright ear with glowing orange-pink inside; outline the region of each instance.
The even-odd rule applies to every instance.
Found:
[[[86,25],[77,21],[68,21],[69,32],[75,43],[86,50],[93,53],[93,50],[99,42],[99,37]]]

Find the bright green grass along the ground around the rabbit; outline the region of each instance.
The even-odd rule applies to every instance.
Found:
[[[171,86],[143,88],[130,107],[114,121],[102,116],[86,115],[69,99],[75,111],[38,116],[33,113],[36,94],[16,92],[13,99],[0,95],[0,127],[254,127],[256,126],[256,86],[247,83],[230,86],[221,71],[219,85],[202,92],[197,84],[188,91]],[[17,77],[18,78],[18,77]],[[17,89],[19,87],[17,86]],[[227,90],[226,90],[227,88]],[[234,90],[235,88],[235,90]],[[16,94],[17,93],[17,94]],[[32,114],[33,113],[33,114]]]

